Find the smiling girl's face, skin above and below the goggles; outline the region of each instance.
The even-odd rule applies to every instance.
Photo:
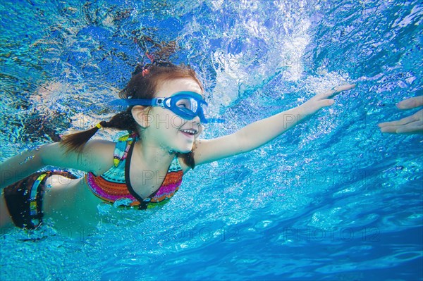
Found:
[[[200,85],[195,80],[180,78],[161,83],[155,97],[169,97],[176,92],[183,91],[202,94]],[[188,153],[192,149],[195,138],[202,132],[198,116],[187,120],[166,108],[154,106],[149,111],[148,118],[151,121],[149,122],[150,136],[154,137],[157,144],[169,151]],[[191,135],[188,132],[183,132],[184,130],[194,130],[195,134]]]

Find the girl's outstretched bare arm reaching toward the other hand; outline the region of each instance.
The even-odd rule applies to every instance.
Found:
[[[316,113],[320,108],[331,106],[334,102],[333,99],[329,99],[331,96],[353,87],[355,85],[333,87],[296,108],[251,123],[231,135],[216,139],[199,139],[195,143],[195,165],[257,149],[294,127],[307,116]]]

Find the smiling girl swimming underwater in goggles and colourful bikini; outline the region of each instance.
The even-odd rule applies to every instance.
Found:
[[[216,139],[197,139],[207,123],[202,83],[184,65],[147,65],[120,93],[128,108],[90,130],[14,156],[1,165],[0,226],[34,229],[43,218],[55,227],[82,229],[99,222],[97,205],[146,209],[164,204],[195,166],[241,154],[270,142],[307,115],[331,106],[342,85],[301,106]],[[127,130],[118,142],[88,141],[102,127]],[[87,172],[77,179],[44,166]],[[31,173],[35,173],[30,175]],[[30,175],[29,177],[26,177]]]

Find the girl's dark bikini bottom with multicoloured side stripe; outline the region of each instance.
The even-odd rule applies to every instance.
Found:
[[[64,171],[37,172],[4,188],[4,199],[13,223],[17,227],[33,230],[42,224],[42,198],[45,182],[51,175],[76,179]]]

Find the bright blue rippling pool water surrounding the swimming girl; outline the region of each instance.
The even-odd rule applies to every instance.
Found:
[[[184,177],[159,211],[99,208],[79,239],[1,233],[1,280],[422,280],[419,1],[1,1],[1,160],[114,111],[154,42],[207,89],[202,137],[227,135],[343,82],[356,89],[269,144]],[[116,132],[98,137],[114,139]]]

